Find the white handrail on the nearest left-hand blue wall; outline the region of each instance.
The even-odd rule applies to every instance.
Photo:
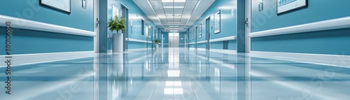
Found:
[[[18,17],[10,17],[6,15],[0,15],[0,23],[11,22],[11,27],[18,29],[29,29],[36,31],[48,31],[60,34],[71,34],[78,36],[96,36],[94,31],[86,31],[83,29],[75,29],[71,27],[64,27],[55,24],[48,24],[44,22],[36,22],[33,20],[25,20]],[[5,24],[0,24],[1,27],[5,27]]]

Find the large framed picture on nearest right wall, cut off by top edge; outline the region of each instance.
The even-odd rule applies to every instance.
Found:
[[[307,7],[307,0],[277,0],[277,15]]]

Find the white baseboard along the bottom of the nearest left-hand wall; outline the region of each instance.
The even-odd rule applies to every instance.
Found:
[[[12,56],[11,66],[19,66],[26,64],[38,64],[44,62],[55,62],[68,59],[79,59],[85,57],[94,57],[94,51],[81,51],[81,52],[52,52],[52,53],[36,53],[25,55],[10,55]],[[5,67],[5,55],[0,55],[0,67]]]

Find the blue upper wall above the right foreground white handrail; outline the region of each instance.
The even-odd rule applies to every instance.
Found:
[[[309,6],[283,15],[276,15],[276,0],[264,0],[264,10],[258,10],[258,0],[251,1],[251,32],[290,27],[297,24],[331,20],[350,15],[349,0],[309,0]]]

